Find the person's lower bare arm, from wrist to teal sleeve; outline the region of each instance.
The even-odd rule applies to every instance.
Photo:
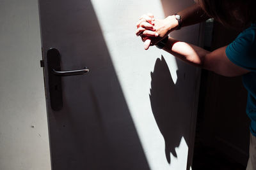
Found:
[[[226,48],[227,46],[223,46],[213,52],[209,52],[198,46],[169,38],[163,50],[188,64],[214,71],[223,76],[239,76],[249,73],[250,71],[237,66],[228,59],[225,52]]]

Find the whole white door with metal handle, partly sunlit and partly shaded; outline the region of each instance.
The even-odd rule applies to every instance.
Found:
[[[53,170],[189,168],[198,70],[143,50],[146,2],[39,1]]]

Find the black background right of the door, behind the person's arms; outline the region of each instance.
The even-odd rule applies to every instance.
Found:
[[[241,30],[205,23],[205,46],[215,50],[231,43]],[[242,77],[202,70],[193,169],[245,169],[250,120]]]

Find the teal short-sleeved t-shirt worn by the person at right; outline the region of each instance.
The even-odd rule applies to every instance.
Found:
[[[246,113],[251,119],[250,131],[256,136],[256,24],[244,30],[226,48],[228,59],[237,66],[250,70],[243,75],[248,91]]]

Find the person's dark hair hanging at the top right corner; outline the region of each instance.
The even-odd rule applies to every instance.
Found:
[[[195,0],[209,17],[239,27],[255,22],[256,0]]]

